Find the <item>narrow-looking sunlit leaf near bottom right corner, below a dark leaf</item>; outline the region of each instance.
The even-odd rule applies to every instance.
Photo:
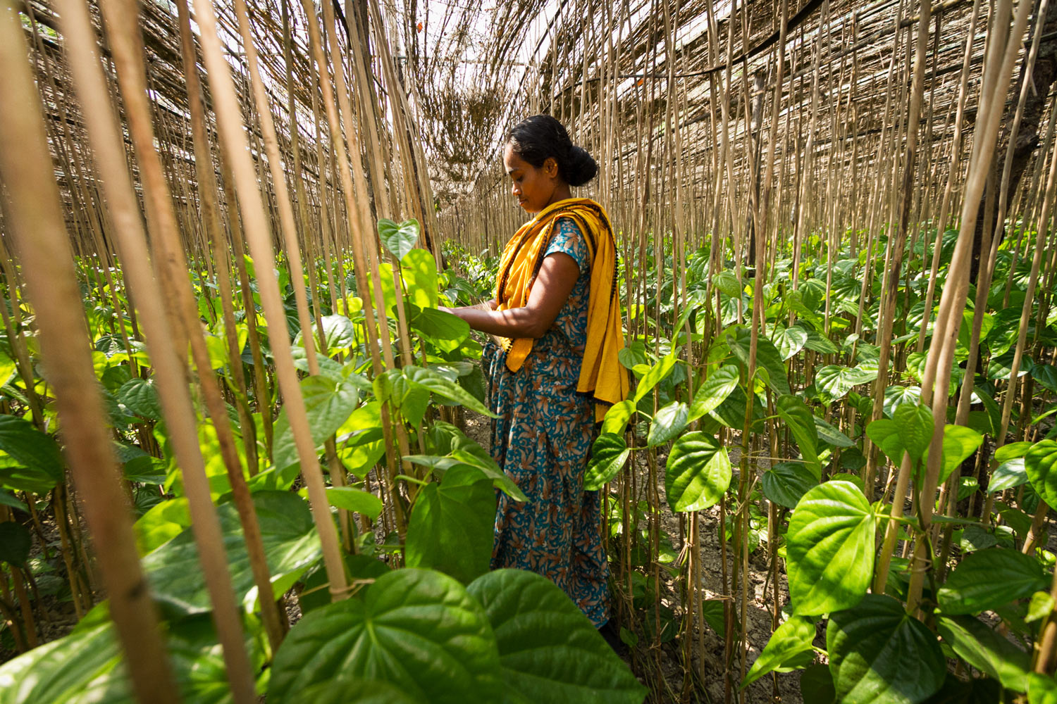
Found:
[[[1031,658],[1008,639],[973,616],[944,616],[937,630],[958,655],[981,672],[1016,691],[1027,689]]]

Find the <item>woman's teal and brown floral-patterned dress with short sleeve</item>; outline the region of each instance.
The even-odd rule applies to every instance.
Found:
[[[528,497],[499,493],[492,568],[531,570],[561,587],[595,626],[609,619],[609,566],[601,544],[598,492],[583,491],[594,440],[590,393],[577,393],[587,340],[590,254],[576,224],[561,217],[546,254],[569,254],[580,267],[554,325],[535,341],[518,372],[498,345],[483,355],[492,455]]]

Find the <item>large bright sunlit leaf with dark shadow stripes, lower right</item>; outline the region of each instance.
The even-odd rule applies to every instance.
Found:
[[[875,530],[873,509],[851,481],[827,481],[803,495],[785,536],[793,613],[858,604],[873,575]]]

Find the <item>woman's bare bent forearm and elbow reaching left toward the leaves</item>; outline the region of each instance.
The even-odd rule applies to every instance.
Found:
[[[580,267],[576,260],[556,252],[543,259],[524,307],[496,310],[496,301],[488,301],[479,306],[441,310],[459,316],[481,332],[504,338],[541,338],[551,329],[579,275]],[[484,309],[485,305],[490,308]]]

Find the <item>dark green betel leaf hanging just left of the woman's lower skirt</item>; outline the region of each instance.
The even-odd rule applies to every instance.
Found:
[[[405,557],[465,583],[488,571],[496,493],[480,470],[459,464],[423,487],[411,509]]]

